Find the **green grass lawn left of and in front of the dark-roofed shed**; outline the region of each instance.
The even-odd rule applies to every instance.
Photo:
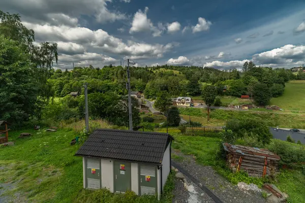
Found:
[[[18,139],[21,132],[32,137]],[[82,158],[74,156],[80,145],[70,146],[73,130],[20,130],[9,134],[14,146],[0,147],[0,189],[14,202],[158,202],[155,197],[137,197],[82,189]],[[171,176],[161,202],[171,202]],[[16,196],[14,196],[16,195]],[[1,199],[1,198],[0,198]],[[130,201],[129,201],[130,200]]]

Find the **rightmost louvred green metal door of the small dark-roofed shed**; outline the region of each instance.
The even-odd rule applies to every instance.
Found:
[[[139,164],[139,194],[157,194],[157,166]]]

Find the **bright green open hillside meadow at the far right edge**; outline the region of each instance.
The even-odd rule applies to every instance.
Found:
[[[282,96],[271,98],[271,105],[284,110],[305,111],[305,80],[294,80],[286,83]]]

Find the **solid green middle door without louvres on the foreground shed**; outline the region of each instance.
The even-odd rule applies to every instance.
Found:
[[[114,161],[114,192],[131,190],[131,163]]]

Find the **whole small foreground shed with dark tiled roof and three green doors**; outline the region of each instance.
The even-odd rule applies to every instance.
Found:
[[[83,187],[161,197],[171,171],[167,133],[96,129],[76,152],[83,157]]]

